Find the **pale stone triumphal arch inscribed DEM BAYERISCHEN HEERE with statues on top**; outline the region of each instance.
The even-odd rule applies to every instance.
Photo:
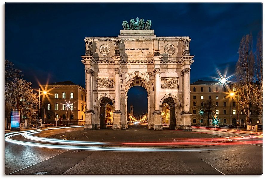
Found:
[[[145,26],[144,26],[145,24]],[[118,37],[86,37],[84,129],[102,129],[105,106],[112,103],[112,129],[126,129],[127,92],[142,86],[148,93],[148,129],[162,130],[162,104],[170,106],[171,129],[190,131],[189,37],[157,37],[151,21],[123,21]],[[141,103],[141,101],[139,101]]]

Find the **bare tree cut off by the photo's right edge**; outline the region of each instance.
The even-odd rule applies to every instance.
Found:
[[[262,33],[258,33],[256,55],[255,55],[255,83],[252,85],[253,104],[263,111],[263,52],[262,52]]]

